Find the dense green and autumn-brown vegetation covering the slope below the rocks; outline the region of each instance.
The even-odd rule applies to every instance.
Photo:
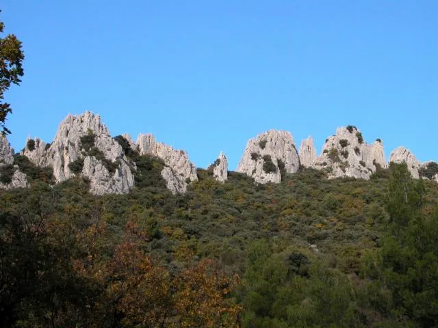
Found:
[[[0,192],[0,327],[438,325],[438,184],[406,165],[265,185],[198,169],[174,196],[136,156],[129,195]]]

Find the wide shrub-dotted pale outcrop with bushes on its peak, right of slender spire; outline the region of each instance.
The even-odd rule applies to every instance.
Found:
[[[355,126],[340,127],[326,139],[322,154],[313,166],[326,168],[329,178],[368,179],[377,167],[386,167],[383,143],[378,139],[370,145]]]

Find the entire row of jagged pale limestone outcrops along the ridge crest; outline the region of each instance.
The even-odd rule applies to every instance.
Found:
[[[86,111],[81,115],[68,115],[60,124],[55,139],[44,143],[40,138],[27,138],[18,154],[10,147],[6,137],[0,137],[0,188],[29,187],[29,174],[45,175],[52,182],[82,176],[90,182],[95,195],[128,193],[136,184],[136,156],[152,156],[162,165],[159,170],[166,187],[174,194],[185,193],[191,182],[198,180],[196,166],[187,152],[157,142],[151,133],[140,133],[134,142],[130,135],[112,137],[99,115]],[[413,178],[427,178],[438,182],[438,164],[420,163],[404,147],[396,148],[389,163],[407,163]],[[31,164],[27,164],[31,163]],[[320,169],[327,178],[369,179],[379,169],[385,169],[383,142],[376,139],[365,142],[356,126],[337,128],[328,137],[318,156],[311,137],[300,143],[297,152],[292,134],[270,130],[250,139],[240,159],[237,172],[246,174],[256,183],[281,182],[285,174],[293,174],[301,167]],[[39,167],[40,172],[29,165]],[[228,160],[223,152],[207,171],[218,182],[228,179]]]

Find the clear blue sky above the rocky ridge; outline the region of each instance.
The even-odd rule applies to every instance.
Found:
[[[153,133],[205,167],[230,169],[250,137],[337,126],[387,156],[438,160],[438,1],[5,0],[25,77],[10,142],[52,141],[68,113],[100,113],[112,135]]]

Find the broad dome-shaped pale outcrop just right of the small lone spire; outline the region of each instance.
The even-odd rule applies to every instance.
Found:
[[[250,139],[237,172],[258,183],[281,182],[281,172],[294,173],[300,167],[294,139],[287,131],[270,130]]]

